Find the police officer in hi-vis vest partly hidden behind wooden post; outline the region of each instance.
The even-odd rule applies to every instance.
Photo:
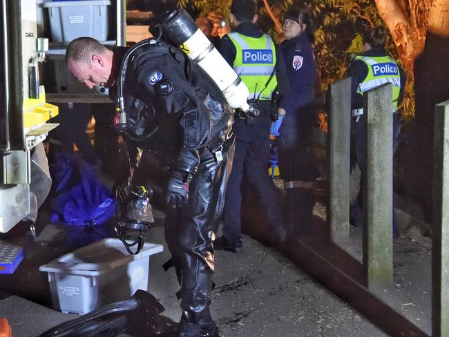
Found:
[[[356,56],[348,73],[351,77],[351,107],[352,123],[351,131],[356,144],[356,161],[361,171],[366,170],[366,122],[363,113],[363,93],[385,83],[392,83],[392,113],[393,113],[393,153],[397,148],[397,139],[401,129],[398,106],[403,99],[405,75],[397,63],[386,52],[384,46],[386,32],[383,28],[374,28],[365,33],[363,37],[363,53]],[[385,71],[381,71],[381,65]],[[363,186],[363,184],[361,184]],[[363,189],[354,202],[351,212],[351,223],[363,226]],[[397,224],[393,216],[393,235],[397,237]]]

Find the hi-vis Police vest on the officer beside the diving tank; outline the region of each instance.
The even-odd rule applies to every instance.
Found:
[[[228,36],[237,50],[232,68],[247,85],[248,98],[271,99],[278,84],[274,74],[267,86],[276,65],[276,50],[271,37],[267,34],[261,37],[247,37],[238,32],[230,32]]]

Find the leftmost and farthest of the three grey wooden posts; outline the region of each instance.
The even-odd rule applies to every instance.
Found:
[[[329,223],[333,242],[350,233],[351,79],[331,85],[329,113]]]

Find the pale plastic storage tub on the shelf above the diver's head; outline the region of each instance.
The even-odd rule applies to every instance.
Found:
[[[108,8],[110,0],[53,1],[48,8],[53,42],[70,42],[77,37],[108,39]]]

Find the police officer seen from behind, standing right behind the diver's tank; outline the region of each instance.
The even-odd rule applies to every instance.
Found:
[[[257,18],[254,0],[233,0],[230,16],[233,32],[222,37],[219,47],[222,56],[249,88],[249,103],[260,113],[258,116],[237,113],[233,126],[236,153],[225,195],[223,235],[216,240],[216,247],[234,253],[242,249],[240,186],[243,175],[258,192],[271,228],[275,233],[276,229],[279,233],[284,230],[283,213],[267,164],[271,96],[276,87],[285,92],[288,84],[283,57],[271,37],[256,26]]]

